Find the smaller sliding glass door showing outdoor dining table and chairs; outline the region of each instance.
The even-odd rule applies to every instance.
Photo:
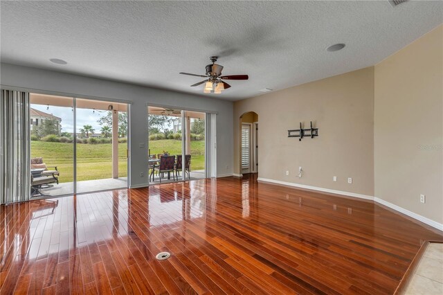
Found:
[[[147,111],[150,183],[205,178],[206,114],[151,106]]]

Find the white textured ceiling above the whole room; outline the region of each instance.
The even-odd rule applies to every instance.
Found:
[[[442,1],[1,1],[1,61],[203,95],[219,55],[238,100],[383,60],[443,22]],[[342,51],[325,48],[345,43]],[[50,58],[66,60],[57,65]]]

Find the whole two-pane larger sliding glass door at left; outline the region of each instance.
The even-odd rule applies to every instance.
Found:
[[[31,197],[127,188],[127,104],[30,93]]]

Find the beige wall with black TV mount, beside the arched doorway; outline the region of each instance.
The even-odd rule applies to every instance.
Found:
[[[234,172],[239,173],[239,118],[255,111],[259,177],[373,195],[373,109],[373,67],[239,100],[234,105]],[[310,120],[319,128],[317,138],[287,137],[288,129],[298,129],[300,121],[307,128]]]

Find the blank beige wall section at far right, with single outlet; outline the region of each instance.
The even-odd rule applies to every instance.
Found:
[[[377,64],[374,83],[375,196],[440,224],[442,48],[439,26]]]

